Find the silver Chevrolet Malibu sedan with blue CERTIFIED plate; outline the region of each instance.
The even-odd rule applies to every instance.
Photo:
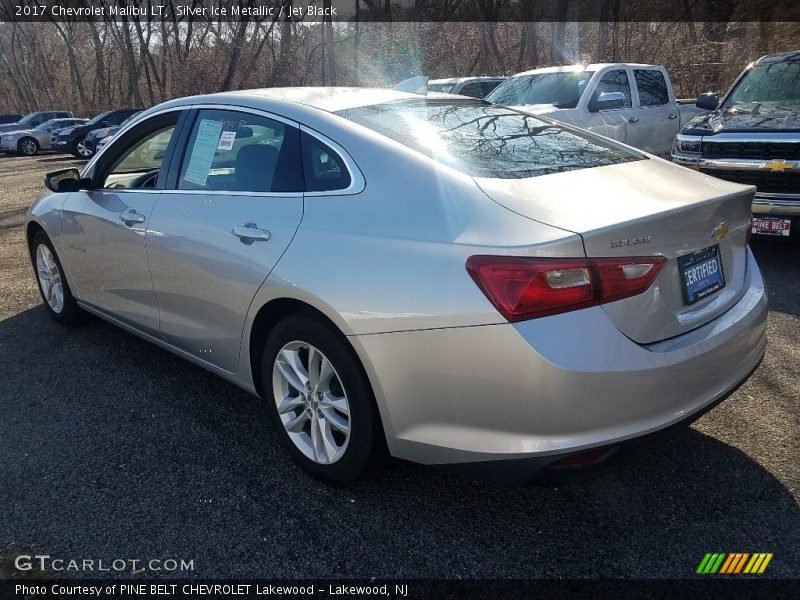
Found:
[[[764,354],[752,187],[481,100],[174,100],[46,184],[27,240],[51,316],[264,398],[332,484],[387,450],[510,480],[594,466]]]

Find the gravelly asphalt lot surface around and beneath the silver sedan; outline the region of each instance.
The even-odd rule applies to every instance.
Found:
[[[20,553],[194,561],[197,577],[689,577],[706,552],[800,571],[800,246],[754,242],[770,294],[753,377],[620,470],[503,488],[395,461],[307,478],[260,403],[102,321],[41,305],[25,211],[55,155],[0,157],[0,576]],[[156,573],[149,573],[156,575]]]

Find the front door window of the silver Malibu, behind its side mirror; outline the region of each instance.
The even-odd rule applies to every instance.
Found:
[[[147,189],[156,185],[167,147],[175,133],[178,115],[154,117],[131,130],[131,143],[118,154],[101,176],[101,186],[108,189]]]

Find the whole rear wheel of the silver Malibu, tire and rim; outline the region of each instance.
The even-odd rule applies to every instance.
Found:
[[[281,443],[305,471],[341,486],[380,463],[385,442],[369,381],[321,319],[281,321],[267,339],[262,377]]]

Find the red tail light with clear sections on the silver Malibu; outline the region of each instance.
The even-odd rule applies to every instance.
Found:
[[[467,271],[500,314],[515,322],[641,294],[666,260],[470,256]]]

